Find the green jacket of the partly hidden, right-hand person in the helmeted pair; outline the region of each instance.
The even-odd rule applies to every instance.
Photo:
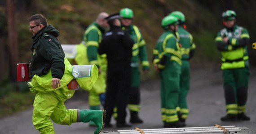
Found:
[[[179,42],[181,43],[181,56],[182,60],[189,60],[194,55],[195,44],[193,42],[193,36],[183,28],[179,26],[178,34]]]

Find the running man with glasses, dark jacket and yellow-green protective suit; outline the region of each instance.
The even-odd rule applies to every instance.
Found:
[[[67,86],[74,79],[73,67],[57,39],[59,31],[53,25],[48,25],[42,14],[32,15],[28,21],[34,40],[28,87],[36,93],[32,114],[35,129],[40,134],[55,134],[52,121],[61,125],[93,121],[97,126],[94,134],[99,134],[104,126],[106,111],[66,109],[64,105],[75,90]],[[97,80],[97,67],[91,66],[89,71],[87,77],[76,79],[83,88],[90,89]]]

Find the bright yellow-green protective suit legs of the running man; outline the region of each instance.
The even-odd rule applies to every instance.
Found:
[[[55,134],[52,121],[62,125],[76,122],[77,109],[66,109],[65,100],[55,92],[36,93],[32,121],[40,134]]]

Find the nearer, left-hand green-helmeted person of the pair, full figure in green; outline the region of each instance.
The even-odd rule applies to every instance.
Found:
[[[153,50],[153,63],[160,76],[161,112],[164,127],[184,127],[179,121],[176,107],[180,91],[181,51],[177,35],[178,19],[164,17],[162,27],[165,30],[159,37]]]

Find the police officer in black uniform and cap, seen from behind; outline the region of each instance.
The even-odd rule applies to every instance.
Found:
[[[111,127],[110,119],[113,109],[117,107],[117,127],[131,126],[126,123],[126,107],[128,104],[128,94],[131,88],[132,68],[132,39],[129,34],[121,29],[119,13],[106,17],[110,25],[108,31],[102,38],[98,48],[99,54],[107,56],[107,90],[104,109],[107,111],[106,127]]]

